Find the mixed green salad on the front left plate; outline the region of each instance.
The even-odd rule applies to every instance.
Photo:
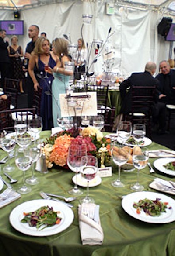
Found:
[[[21,220],[21,223],[28,223],[30,227],[36,227],[37,230],[42,227],[40,230],[45,227],[51,227],[55,224],[59,224],[61,218],[57,216],[60,212],[53,211],[52,207],[42,206],[35,212],[23,212],[24,218]]]

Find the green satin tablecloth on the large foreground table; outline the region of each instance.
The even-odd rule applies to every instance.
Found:
[[[49,132],[42,132],[41,137],[49,136]],[[152,143],[149,149],[164,148]],[[1,156],[5,155],[0,150]],[[153,163],[154,159],[150,159]],[[14,159],[11,159],[14,163]],[[173,256],[175,255],[175,222],[168,224],[144,223],[132,218],[123,211],[121,196],[132,192],[130,185],[136,182],[137,173],[122,172],[121,179],[126,184],[124,188],[114,188],[111,181],[117,177],[117,168],[112,165],[112,177],[102,178],[102,183],[90,188],[90,195],[95,198],[95,203],[100,205],[100,219],[104,231],[103,245],[88,246],[81,244],[80,230],[77,217],[78,200],[73,202],[73,223],[63,232],[49,237],[31,237],[14,230],[9,223],[9,214],[17,205],[32,199],[40,199],[39,191],[62,194],[69,196],[67,191],[73,187],[71,179],[74,175],[69,170],[52,169],[48,174],[42,175],[36,172],[40,183],[32,187],[30,194],[23,194],[21,198],[10,205],[0,209],[0,255],[1,256]],[[1,165],[1,168],[3,165]],[[4,179],[6,177],[1,172]],[[22,183],[22,172],[15,169],[11,176],[19,181],[13,185],[14,189]],[[31,169],[26,172],[31,176]],[[155,191],[149,188],[149,184],[155,177],[170,177],[160,172],[149,173],[148,167],[140,172],[140,183],[145,190]],[[6,179],[7,180],[7,179]],[[5,189],[5,187],[4,187]],[[84,195],[86,188],[82,188]],[[175,199],[175,196],[169,195]]]

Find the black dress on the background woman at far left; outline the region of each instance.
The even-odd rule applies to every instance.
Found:
[[[14,48],[11,46],[10,48],[10,55],[14,55],[15,53],[21,54],[21,46],[15,51]],[[21,58],[12,57],[11,58],[11,78],[23,80],[25,78],[25,73],[22,70],[22,61]]]

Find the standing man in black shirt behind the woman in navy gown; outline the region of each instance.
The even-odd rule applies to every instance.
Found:
[[[29,59],[31,57],[31,52],[35,48],[35,42],[38,39],[38,33],[39,33],[39,27],[37,25],[31,25],[28,29],[28,37],[31,38],[31,42],[27,44],[27,47],[25,49],[25,59]],[[27,71],[27,69],[25,69]],[[31,80],[31,77],[28,74],[27,77],[27,91],[28,91],[28,107],[32,107],[33,102],[33,81]]]

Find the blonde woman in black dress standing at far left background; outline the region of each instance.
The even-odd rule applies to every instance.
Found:
[[[12,76],[13,79],[20,80],[20,92],[24,93],[22,82],[25,79],[25,73],[22,70],[22,61],[21,57],[24,56],[23,50],[21,45],[18,45],[18,37],[13,36],[11,37],[11,45],[7,48],[9,57],[11,59],[11,69],[12,69]]]

